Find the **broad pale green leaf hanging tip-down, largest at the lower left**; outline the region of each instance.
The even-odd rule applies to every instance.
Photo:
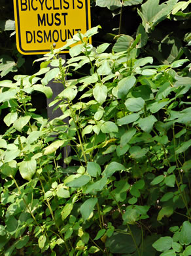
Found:
[[[31,181],[33,175],[35,174],[37,167],[37,161],[35,159],[22,161],[20,163],[19,171],[23,179]]]

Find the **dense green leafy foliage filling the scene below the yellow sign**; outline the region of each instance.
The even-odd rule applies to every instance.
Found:
[[[142,2],[92,1],[118,13],[114,44],[97,26],[67,41],[65,66],[61,49],[36,73],[0,66],[0,255],[191,254],[190,1]],[[48,121],[31,96],[52,79],[63,115]]]

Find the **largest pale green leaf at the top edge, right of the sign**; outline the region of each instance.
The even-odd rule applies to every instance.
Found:
[[[146,32],[151,32],[159,22],[162,22],[171,13],[176,3],[177,0],[169,0],[159,5],[159,0],[147,0],[141,5],[141,11],[137,11]]]

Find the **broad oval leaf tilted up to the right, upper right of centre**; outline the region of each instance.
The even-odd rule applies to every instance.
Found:
[[[133,85],[135,85],[135,82],[136,78],[133,75],[121,79],[116,87],[118,98],[126,98],[126,95]]]

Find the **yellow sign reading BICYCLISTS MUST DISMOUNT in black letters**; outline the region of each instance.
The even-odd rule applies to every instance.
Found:
[[[45,54],[90,29],[90,0],[14,0],[14,17],[18,51]]]

